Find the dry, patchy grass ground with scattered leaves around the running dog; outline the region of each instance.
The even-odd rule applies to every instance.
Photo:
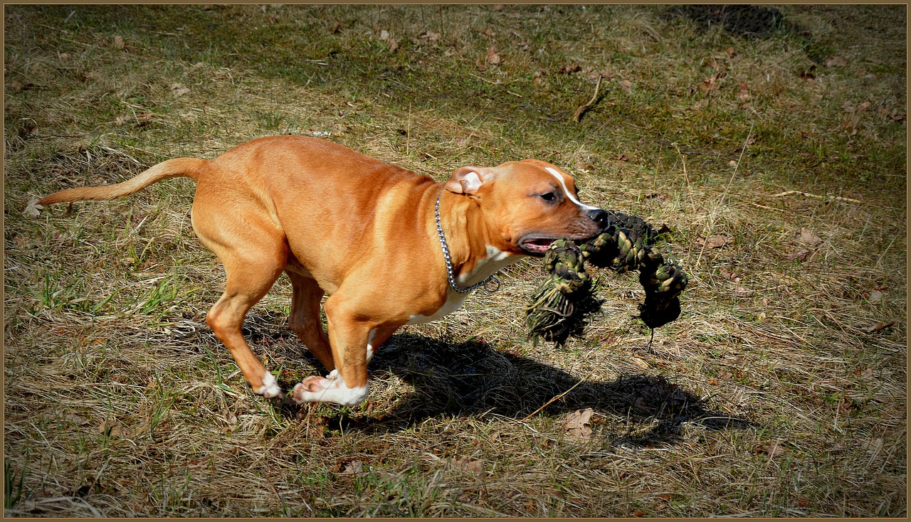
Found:
[[[5,5],[5,515],[906,517],[906,6],[779,9]],[[363,407],[292,407],[205,323],[192,181],[30,205],[273,134],[558,164],[670,228],[681,318],[649,343],[605,271],[535,347],[522,261]],[[290,295],[245,323],[285,386],[322,370]]]

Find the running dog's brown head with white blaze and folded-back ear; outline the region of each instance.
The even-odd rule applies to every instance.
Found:
[[[491,246],[514,254],[543,256],[555,240],[585,241],[609,225],[606,211],[578,200],[572,176],[537,159],[462,167],[445,189],[475,199],[501,234]]]

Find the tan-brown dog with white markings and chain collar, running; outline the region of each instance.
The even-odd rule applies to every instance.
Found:
[[[543,161],[462,167],[437,183],[300,136],[254,139],[211,161],[169,159],[128,181],[38,203],[113,200],[177,176],[196,180],[193,229],[228,278],[206,322],[267,397],[281,388],[241,324],[282,271],[291,278],[291,329],[330,371],[297,384],[298,403],[361,403],[367,362],[399,326],[439,319],[462,304],[466,287],[608,224],[604,210],[578,201],[571,176]]]

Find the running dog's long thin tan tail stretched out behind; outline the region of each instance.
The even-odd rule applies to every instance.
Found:
[[[83,200],[116,200],[145,189],[152,183],[157,183],[162,179],[178,178],[180,176],[199,181],[200,168],[207,163],[209,163],[207,159],[169,159],[122,183],[105,187],[80,187],[78,189],[60,190],[38,200],[38,204],[47,205],[49,203]]]

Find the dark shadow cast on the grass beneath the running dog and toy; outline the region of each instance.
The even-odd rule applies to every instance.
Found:
[[[625,433],[613,437],[615,443],[673,443],[681,439],[684,423],[708,429],[752,425],[711,411],[696,394],[661,376],[628,374],[609,382],[579,383],[577,377],[557,367],[497,351],[476,340],[452,342],[399,333],[383,344],[370,366],[374,378],[394,374],[412,384],[414,393],[403,395],[382,414],[330,418],[330,427],[376,433],[405,429],[439,415],[495,414],[524,419],[570,388],[537,415],[592,408],[621,424],[630,421]],[[292,408],[286,405],[282,410],[291,413]],[[645,428],[634,430],[634,425]]]

